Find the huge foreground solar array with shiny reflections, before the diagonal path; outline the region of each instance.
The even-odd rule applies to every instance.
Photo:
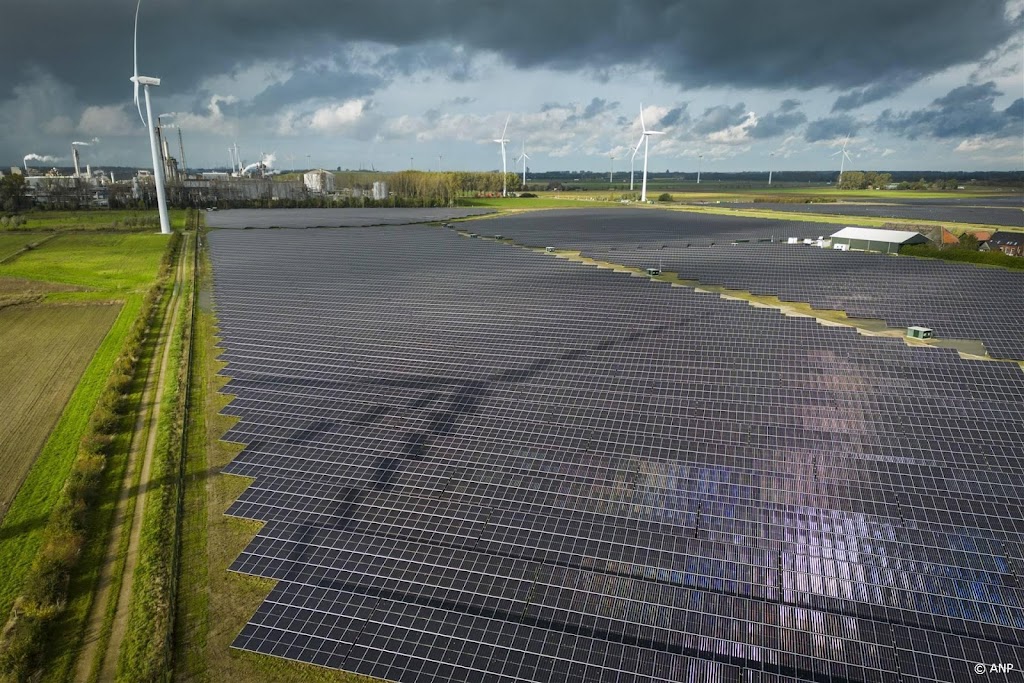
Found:
[[[279,582],[237,647],[394,681],[1024,666],[1018,367],[445,230],[210,245],[228,513],[266,522],[232,569]]]

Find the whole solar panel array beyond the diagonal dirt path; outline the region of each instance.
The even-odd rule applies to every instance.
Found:
[[[1024,272],[809,249],[782,244],[780,238],[759,242],[778,226],[765,228],[756,219],[728,218],[729,227],[723,229],[699,215],[675,225],[660,217],[668,212],[634,213],[633,227],[612,219],[594,226],[585,215],[564,213],[501,217],[476,225],[486,226],[483,234],[500,232],[526,246],[552,245],[630,267],[658,267],[705,285],[881,318],[892,327],[924,325],[940,337],[981,340],[993,357],[1024,359]],[[613,242],[608,236],[616,225],[620,238]],[[805,225],[798,233],[806,236],[808,229],[817,237],[822,230],[829,234],[830,226]],[[700,234],[706,237],[696,237]],[[690,236],[690,242],[682,236]],[[734,245],[734,239],[751,242]],[[711,249],[695,248],[711,242]]]

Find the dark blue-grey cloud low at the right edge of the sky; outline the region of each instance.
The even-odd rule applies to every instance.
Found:
[[[899,114],[886,110],[874,122],[874,127],[911,140],[923,136],[1019,136],[1024,132],[1024,100],[1017,99],[1000,111],[995,106],[995,98],[1001,94],[991,81],[963,85],[923,110]]]

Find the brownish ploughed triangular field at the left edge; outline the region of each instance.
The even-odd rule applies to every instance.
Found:
[[[120,309],[0,310],[0,519]]]

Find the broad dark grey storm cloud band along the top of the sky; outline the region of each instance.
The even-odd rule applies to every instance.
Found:
[[[128,96],[131,3],[7,4],[0,45],[16,63],[43,68],[88,102]],[[139,61],[146,75],[165,79],[165,91],[180,93],[238,66],[312,58],[347,41],[449,43],[470,53],[493,50],[518,67],[599,74],[649,66],[686,86],[856,88],[864,89],[863,98],[876,83],[978,60],[1020,27],[1021,17],[1008,18],[997,1],[377,0],[353,7],[336,0],[296,6],[144,0]],[[398,55],[393,67],[414,69],[438,58],[428,54],[418,62]],[[451,75],[465,75],[455,63]],[[24,75],[24,69],[0,71],[0,99]]]

